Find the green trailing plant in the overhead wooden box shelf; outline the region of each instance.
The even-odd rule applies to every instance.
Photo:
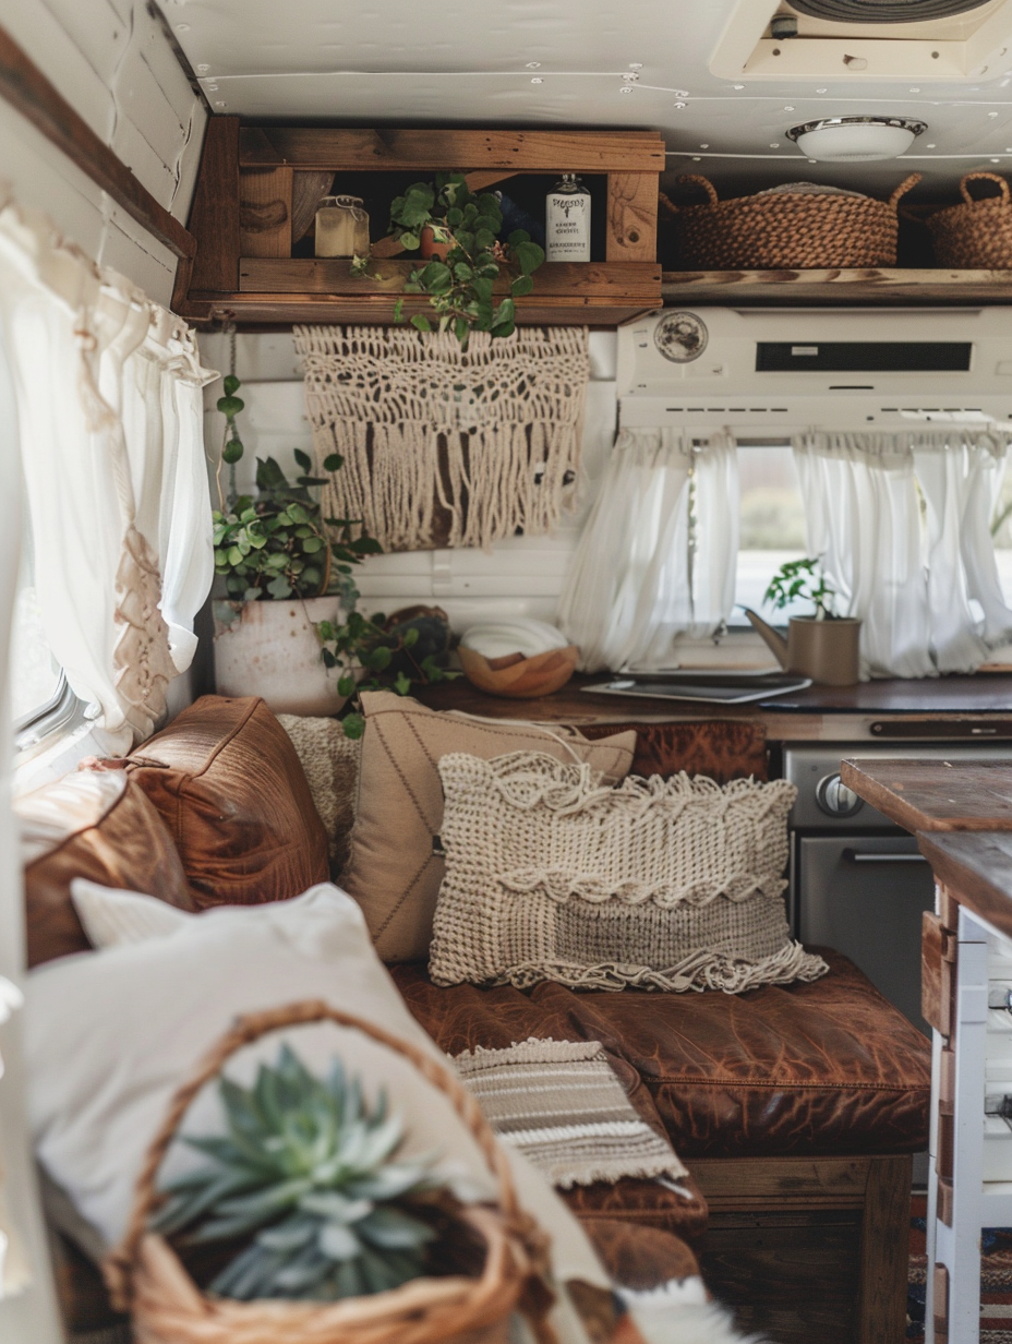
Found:
[[[462,173],[439,175],[434,187],[417,181],[398,196],[390,207],[390,222],[391,233],[407,251],[421,246],[426,227],[437,239],[452,242],[445,261],[434,258],[417,266],[405,284],[405,293],[429,296],[439,331],[452,329],[465,348],[472,331],[492,336],[513,332],[513,300],[534,290],[532,276],[544,261],[544,250],[523,228],[500,239],[503,211],[492,192],[472,192]],[[512,273],[509,294],[496,301],[495,285],[503,267]],[[398,300],[394,317],[403,320],[403,300]],[[419,331],[433,329],[423,313],[415,313],[411,324]]]

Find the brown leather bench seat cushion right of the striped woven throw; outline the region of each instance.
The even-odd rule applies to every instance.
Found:
[[[743,995],[532,995],[563,1030],[637,1070],[679,1156],[917,1152],[927,1144],[927,1040],[845,957],[813,984]]]

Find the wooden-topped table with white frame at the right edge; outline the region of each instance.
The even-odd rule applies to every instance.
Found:
[[[921,986],[933,1028],[926,1344],[977,1344],[980,1232],[1012,1227],[1012,1181],[984,1181],[988,949],[1012,953],[1012,761],[844,761],[840,778],[917,835],[935,876]]]

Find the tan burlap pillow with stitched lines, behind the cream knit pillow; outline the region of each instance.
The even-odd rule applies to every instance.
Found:
[[[392,691],[362,696],[359,806],[352,852],[341,886],[359,902],[383,961],[429,956],[433,914],[444,875],[433,837],[442,831],[439,759],[450,751],[489,758],[542,751],[560,761],[585,759],[613,781],[624,780],[636,734],[587,742],[556,724],[492,722],[439,714]]]

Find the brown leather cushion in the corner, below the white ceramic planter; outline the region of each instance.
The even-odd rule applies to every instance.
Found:
[[[132,758],[200,909],[288,900],[329,880],[327,832],[263,700],[204,695]]]

